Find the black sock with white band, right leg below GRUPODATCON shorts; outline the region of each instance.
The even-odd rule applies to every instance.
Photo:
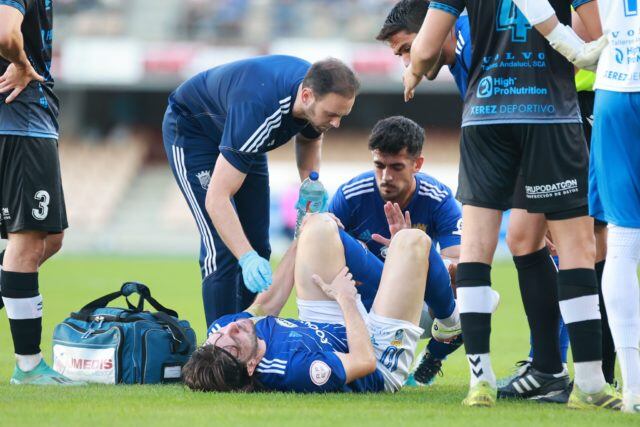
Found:
[[[602,322],[596,273],[588,268],[560,270],[558,297],[569,331],[573,362],[602,360]]]

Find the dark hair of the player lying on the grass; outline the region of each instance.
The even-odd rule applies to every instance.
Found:
[[[193,352],[182,368],[182,380],[194,391],[244,391],[259,384],[247,372],[247,365],[227,350],[208,344]]]

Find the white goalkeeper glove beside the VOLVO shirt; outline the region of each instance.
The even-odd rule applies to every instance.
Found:
[[[571,27],[563,24],[556,25],[547,35],[547,40],[552,48],[567,58],[573,65],[589,71],[596,70],[600,54],[609,43],[606,35],[603,35],[598,40],[585,43]]]

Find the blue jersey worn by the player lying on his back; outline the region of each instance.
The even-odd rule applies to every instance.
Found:
[[[242,312],[219,318],[208,333],[240,319],[251,319],[256,335],[266,343],[266,352],[254,374],[266,389],[299,393],[384,391],[384,379],[378,370],[346,383],[344,366],[336,356],[336,352],[349,351],[344,326],[254,317]]]

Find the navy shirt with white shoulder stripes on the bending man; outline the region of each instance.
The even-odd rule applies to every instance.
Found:
[[[236,169],[248,173],[298,133],[320,134],[293,117],[298,88],[311,64],[293,56],[271,55],[232,62],[204,71],[169,97],[186,136],[214,144]]]

